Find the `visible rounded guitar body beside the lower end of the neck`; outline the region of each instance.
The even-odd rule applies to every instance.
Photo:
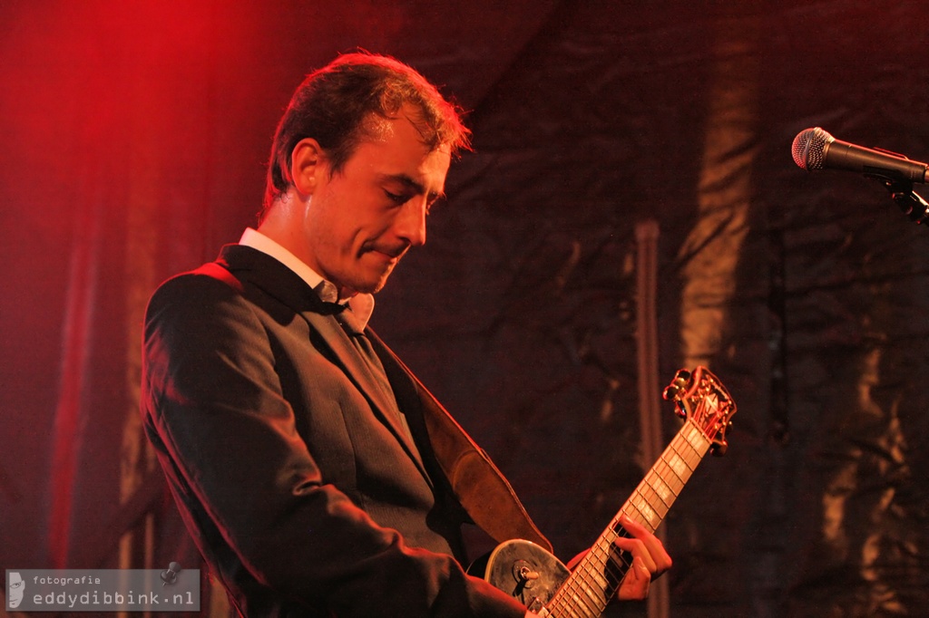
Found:
[[[570,573],[555,556],[522,539],[501,543],[468,572],[483,577],[533,612],[542,609]]]

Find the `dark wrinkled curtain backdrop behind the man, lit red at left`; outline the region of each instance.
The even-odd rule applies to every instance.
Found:
[[[929,160],[927,21],[891,0],[0,4],[0,568],[196,564],[139,431],[142,312],[254,223],[295,85],[360,46],[475,133],[373,327],[558,555],[651,464],[654,221],[661,380],[706,365],[739,404],[664,524],[671,614],[925,615],[929,230],[790,148],[819,125]]]

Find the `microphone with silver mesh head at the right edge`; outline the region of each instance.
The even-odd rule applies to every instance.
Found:
[[[793,138],[793,161],[807,172],[848,170],[879,180],[925,184],[926,168],[920,161],[887,150],[864,148],[832,137],[819,127],[805,129]]]

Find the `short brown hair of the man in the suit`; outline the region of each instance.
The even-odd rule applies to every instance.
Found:
[[[395,58],[367,52],[345,54],[307,75],[274,135],[261,218],[293,185],[291,154],[301,139],[312,137],[319,142],[330,173],[338,174],[355,148],[377,135],[378,118],[394,118],[405,105],[416,110],[410,120],[430,150],[448,147],[455,155],[470,148],[470,131],[461,120],[461,109]]]

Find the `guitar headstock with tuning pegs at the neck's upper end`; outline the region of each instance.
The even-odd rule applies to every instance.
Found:
[[[679,369],[662,396],[674,402],[679,417],[691,420],[713,443],[713,455],[726,453],[726,430],[736,413],[736,402],[709,369]]]

